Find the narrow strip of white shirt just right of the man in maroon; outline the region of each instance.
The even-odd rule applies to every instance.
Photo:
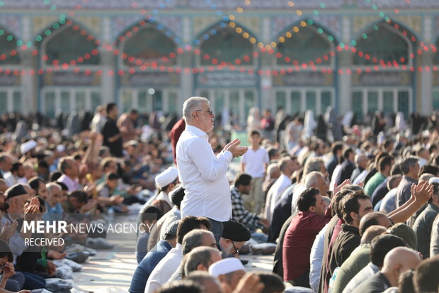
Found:
[[[323,260],[323,250],[325,244],[326,224],[317,234],[314,243],[312,243],[311,254],[309,255],[309,286],[314,292],[319,291],[321,260]]]

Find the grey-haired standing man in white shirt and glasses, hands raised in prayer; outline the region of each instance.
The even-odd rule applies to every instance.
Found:
[[[186,128],[176,147],[178,176],[185,188],[181,202],[181,217],[205,216],[212,223],[212,232],[220,241],[223,222],[232,218],[229,180],[226,177],[233,157],[246,153],[233,140],[217,156],[208,142],[207,133],[213,129],[215,114],[209,100],[193,96],[183,104]]]

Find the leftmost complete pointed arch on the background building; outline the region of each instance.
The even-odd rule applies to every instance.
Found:
[[[45,65],[98,65],[100,41],[84,24],[73,19],[52,23],[35,38]]]

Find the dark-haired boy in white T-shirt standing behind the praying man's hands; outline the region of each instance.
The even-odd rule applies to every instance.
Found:
[[[251,131],[249,140],[251,148],[241,160],[241,171],[251,176],[251,191],[249,196],[244,197],[244,206],[247,211],[260,214],[264,204],[262,184],[270,158],[267,150],[259,146],[262,138],[258,131]]]

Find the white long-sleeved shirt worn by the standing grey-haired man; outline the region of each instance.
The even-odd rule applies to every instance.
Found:
[[[181,217],[207,216],[215,221],[232,218],[232,200],[226,177],[232,153],[217,156],[207,140],[207,133],[186,125],[176,148],[178,177],[185,190]]]

